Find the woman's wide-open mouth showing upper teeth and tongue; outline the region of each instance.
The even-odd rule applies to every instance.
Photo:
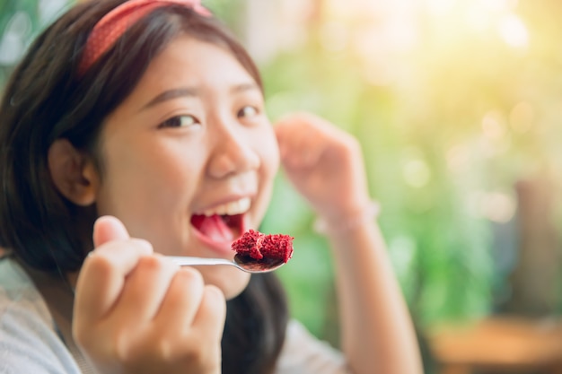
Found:
[[[243,233],[243,214],[194,214],[191,225],[204,237],[214,242],[232,242]]]

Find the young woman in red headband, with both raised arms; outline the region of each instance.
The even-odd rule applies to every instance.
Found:
[[[0,107],[0,372],[421,372],[358,144],[263,100],[196,1],[92,1],[40,35]],[[162,256],[232,258],[280,163],[328,228],[342,352],[274,274]]]

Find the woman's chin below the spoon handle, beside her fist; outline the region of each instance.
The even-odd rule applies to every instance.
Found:
[[[213,284],[223,291],[226,300],[238,296],[250,282],[249,273],[230,266],[198,266],[198,271],[203,275],[206,284]]]

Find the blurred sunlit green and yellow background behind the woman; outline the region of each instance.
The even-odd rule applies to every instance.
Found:
[[[0,0],[0,87],[31,39],[69,4]],[[536,367],[507,372],[559,373],[551,370],[562,361],[562,2],[203,4],[256,59],[273,120],[310,110],[363,145],[426,371],[470,372],[461,362],[470,357],[455,352],[496,338],[482,340],[484,329],[507,340],[487,347],[479,370],[535,350],[552,352],[550,361],[533,356]],[[281,173],[261,229],[294,236],[297,252],[278,272],[291,309],[338,345],[329,248],[313,220]],[[552,346],[522,345],[537,336]],[[457,371],[446,371],[447,362]]]

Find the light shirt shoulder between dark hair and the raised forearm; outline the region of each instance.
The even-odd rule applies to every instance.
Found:
[[[344,355],[312,335],[293,319],[286,330],[285,344],[275,374],[350,374]]]

